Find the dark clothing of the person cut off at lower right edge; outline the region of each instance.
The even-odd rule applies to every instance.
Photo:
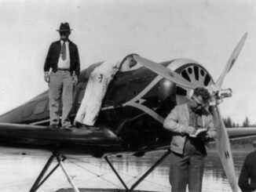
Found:
[[[245,158],[238,184],[243,192],[256,190],[256,150]]]

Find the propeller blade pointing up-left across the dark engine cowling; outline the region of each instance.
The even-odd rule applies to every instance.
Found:
[[[138,63],[143,64],[144,67],[147,67],[151,71],[154,71],[156,74],[159,74],[163,78],[167,78],[171,82],[174,82],[188,89],[196,89],[195,84],[188,82],[188,80],[186,80],[185,78],[182,78],[180,74],[177,74],[175,71],[172,71],[159,63],[155,63],[151,60],[147,60],[141,56],[133,56],[133,58]]]

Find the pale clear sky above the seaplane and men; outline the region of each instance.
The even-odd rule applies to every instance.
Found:
[[[221,103],[221,114],[256,123],[255,9],[253,0],[0,0],[0,114],[48,89],[46,54],[68,22],[82,69],[137,53],[155,62],[196,60],[214,81],[247,32],[222,86],[233,96]]]

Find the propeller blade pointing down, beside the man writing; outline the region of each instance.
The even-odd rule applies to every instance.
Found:
[[[216,128],[218,128],[217,137],[215,139],[218,154],[221,158],[221,163],[224,168],[225,175],[229,179],[230,187],[232,188],[233,192],[237,192],[240,190],[236,182],[236,172],[229,143],[229,135],[227,130],[225,129],[224,122],[222,121],[220,110],[217,106],[213,107],[213,109],[214,125],[216,126]]]

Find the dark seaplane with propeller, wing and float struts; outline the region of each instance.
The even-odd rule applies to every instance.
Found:
[[[97,118],[96,126],[99,129],[93,132],[78,128],[51,129],[49,94],[48,91],[42,92],[20,107],[0,116],[0,146],[51,152],[30,192],[38,190],[59,166],[67,176],[71,190],[79,191],[64,167],[65,159],[71,154],[104,158],[123,184],[124,190],[133,191],[170,154],[172,134],[163,129],[163,121],[167,114],[176,105],[188,102],[193,89],[206,87],[213,97],[210,111],[214,116],[214,125],[218,129],[218,136],[212,142],[216,142],[232,190],[238,191],[229,139],[256,136],[256,129],[225,129],[219,105],[225,98],[232,96],[232,89],[222,89],[221,86],[226,74],[236,62],[246,38],[247,33],[236,45],[216,82],[207,69],[195,60],[181,58],[155,63],[137,54],[134,55],[134,60],[140,63],[141,67],[115,74],[108,85]],[[71,119],[75,118],[79,109],[90,73],[101,63],[94,63],[81,71],[78,85],[75,86]],[[108,159],[110,155],[120,154],[143,158],[145,153],[155,150],[164,151],[163,156],[131,187],[127,187]],[[57,166],[46,175],[54,159],[57,160]]]

